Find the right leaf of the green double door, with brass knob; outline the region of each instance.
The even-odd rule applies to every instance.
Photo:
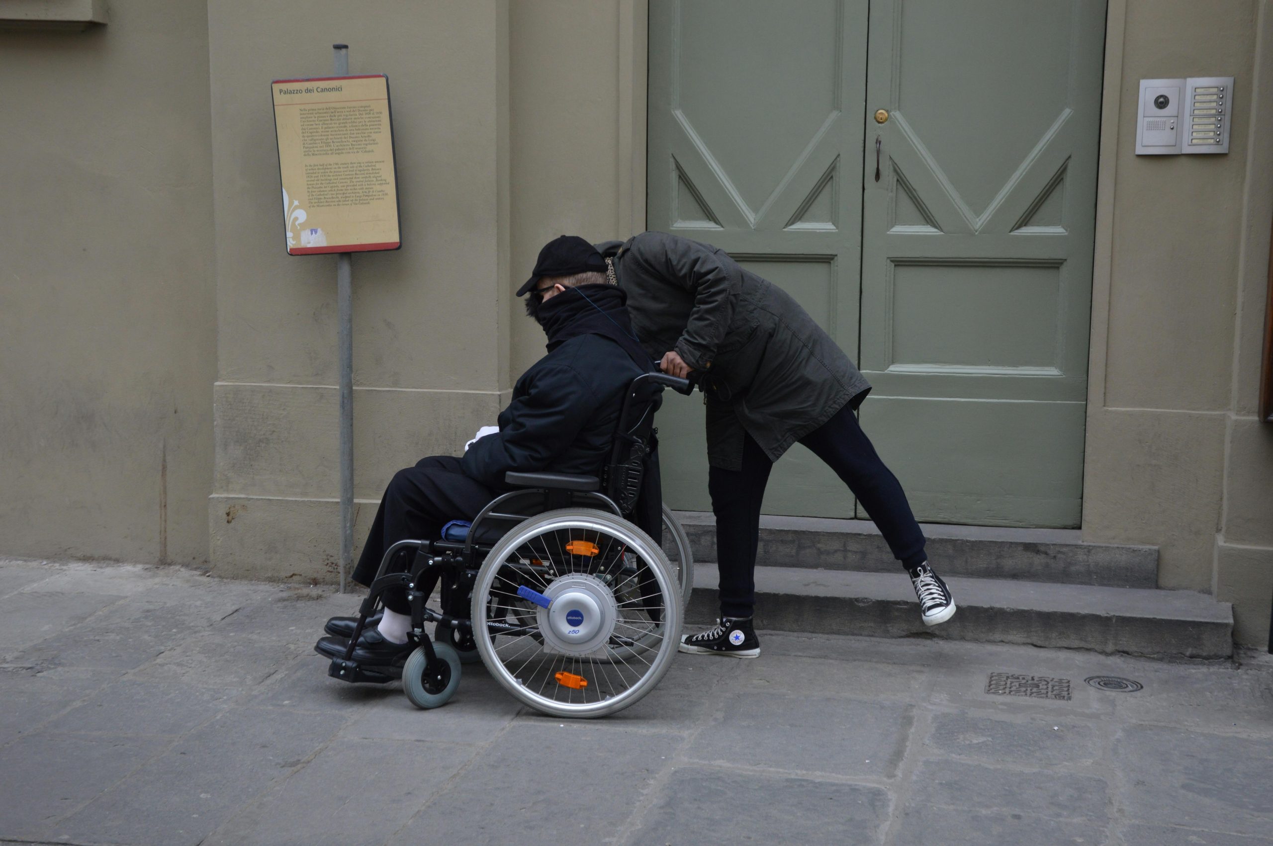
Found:
[[[1104,29],[872,0],[862,425],[922,520],[1078,525]]]

